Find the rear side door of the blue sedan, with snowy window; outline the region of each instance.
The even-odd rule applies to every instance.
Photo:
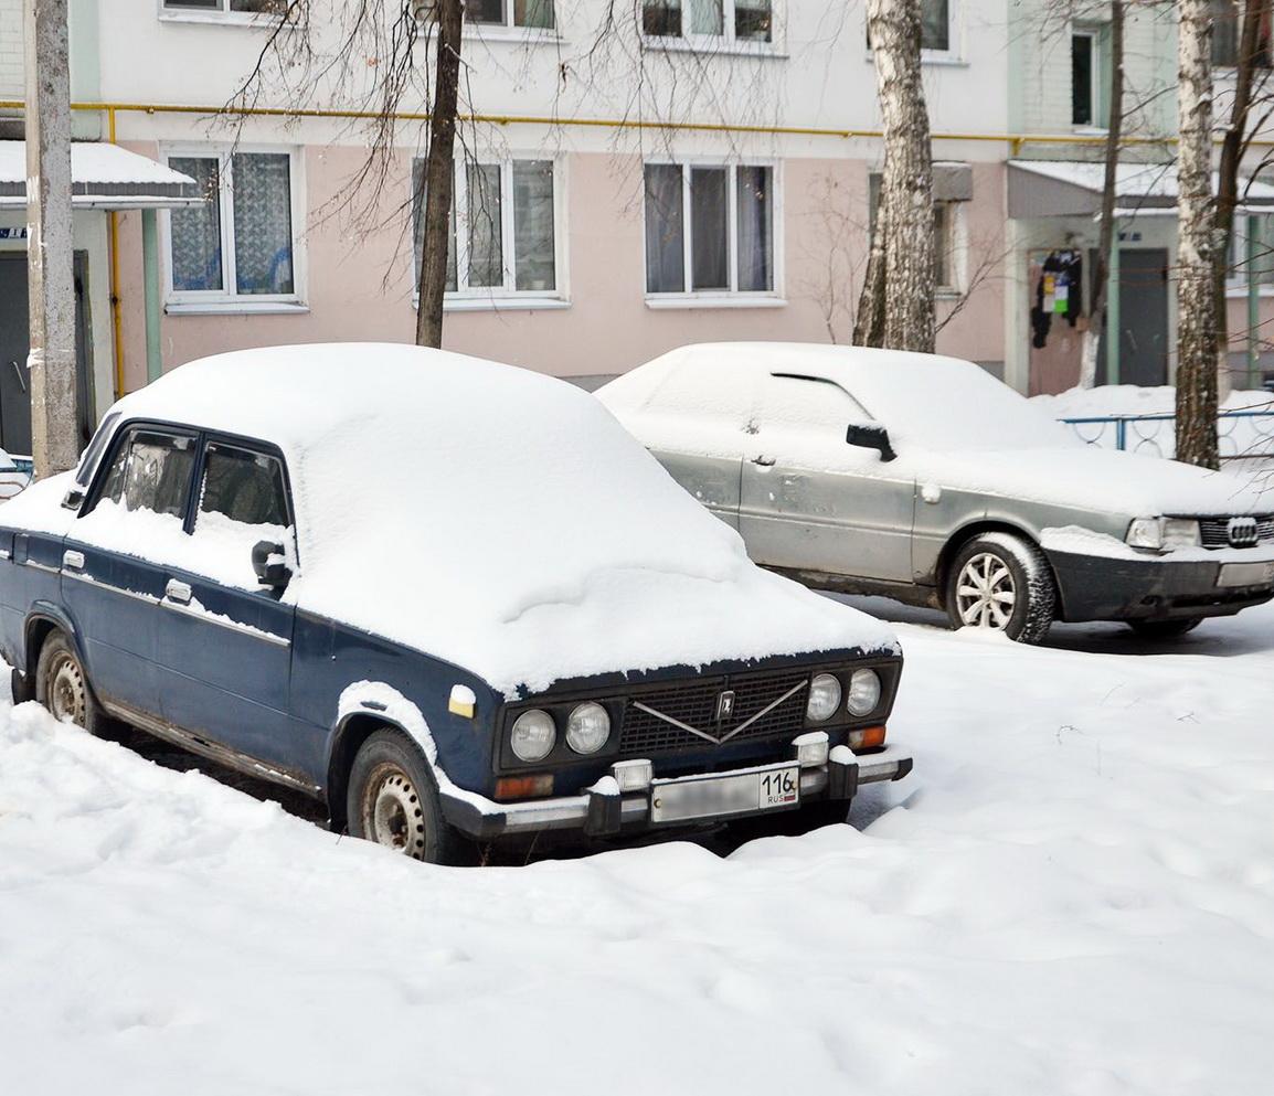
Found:
[[[101,489],[62,544],[62,600],[79,632],[89,681],[98,700],[120,714],[159,715],[161,542],[181,535],[196,451],[192,432],[125,429]]]

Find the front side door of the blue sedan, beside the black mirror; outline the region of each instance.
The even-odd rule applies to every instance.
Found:
[[[211,438],[197,477],[186,552],[161,602],[164,719],[280,772],[310,771],[321,740],[289,714],[293,608],[252,562],[261,542],[296,559],[283,461]]]

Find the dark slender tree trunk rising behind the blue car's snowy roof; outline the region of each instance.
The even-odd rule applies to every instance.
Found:
[[[460,89],[460,36],[462,0],[434,0],[438,48],[433,74],[433,108],[429,112],[429,149],[426,157],[424,223],[420,242],[420,303],[415,315],[415,342],[442,347],[442,296],[447,289],[447,247],[451,241],[451,191],[455,185],[456,102]]]

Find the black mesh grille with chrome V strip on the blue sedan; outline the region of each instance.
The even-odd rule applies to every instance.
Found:
[[[650,757],[679,749],[705,749],[722,740],[736,743],[795,737],[805,726],[804,686],[808,681],[808,670],[785,670],[734,674],[729,678],[696,678],[637,693],[629,697],[624,710],[619,754]],[[734,693],[734,712],[719,721],[719,698],[726,691]],[[784,700],[780,701],[781,697]],[[757,719],[762,711],[766,714]],[[669,720],[693,726],[701,734]],[[740,726],[743,730],[738,729]]]

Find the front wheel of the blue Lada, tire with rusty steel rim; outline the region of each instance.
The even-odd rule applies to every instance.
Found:
[[[433,771],[399,730],[373,732],[359,747],[349,770],[345,811],[352,836],[414,860],[462,864],[471,858],[471,846],[443,818]]]

